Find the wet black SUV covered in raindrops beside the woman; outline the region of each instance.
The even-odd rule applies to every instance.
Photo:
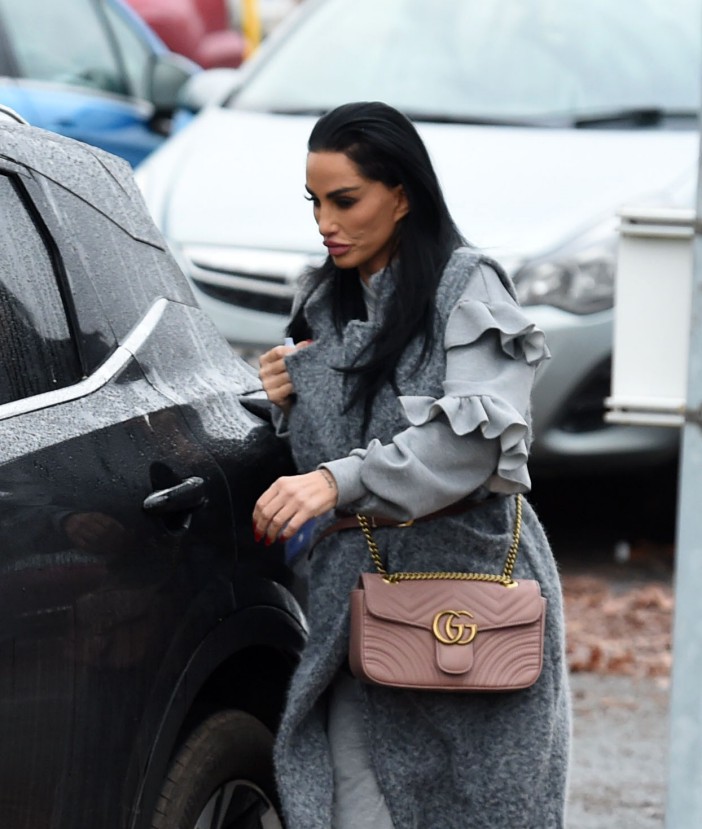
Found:
[[[0,118],[0,235],[0,825],[277,827],[305,623],[258,380],[125,162]]]

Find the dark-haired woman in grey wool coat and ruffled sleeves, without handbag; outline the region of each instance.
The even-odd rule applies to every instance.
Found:
[[[308,149],[329,256],[296,302],[298,345],[261,358],[299,474],[259,499],[257,538],[290,538],[332,509],[422,518],[374,532],[388,569],[500,572],[514,493],[530,486],[543,334],[499,266],[465,245],[404,116],[347,104],[317,122]],[[357,530],[324,537],[310,561],[309,642],[276,747],[288,829],[562,827],[560,586],[529,505],[515,575],[538,579],[548,610],[544,668],[527,690],[440,694],[352,678],[349,592],[364,570],[373,564]]]

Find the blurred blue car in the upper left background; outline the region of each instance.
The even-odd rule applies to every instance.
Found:
[[[122,0],[0,0],[0,104],[136,166],[199,67]]]

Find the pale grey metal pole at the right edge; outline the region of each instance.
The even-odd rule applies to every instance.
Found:
[[[697,211],[702,216],[702,156]],[[699,224],[699,222],[698,222]],[[693,242],[687,408],[702,411],[702,236]],[[661,297],[665,308],[665,296]],[[662,310],[661,313],[665,313]],[[702,424],[683,427],[666,829],[702,827]]]

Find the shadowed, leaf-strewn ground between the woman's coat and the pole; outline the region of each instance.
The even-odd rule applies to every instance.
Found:
[[[662,829],[674,481],[537,483],[564,580],[574,711],[566,829]]]

